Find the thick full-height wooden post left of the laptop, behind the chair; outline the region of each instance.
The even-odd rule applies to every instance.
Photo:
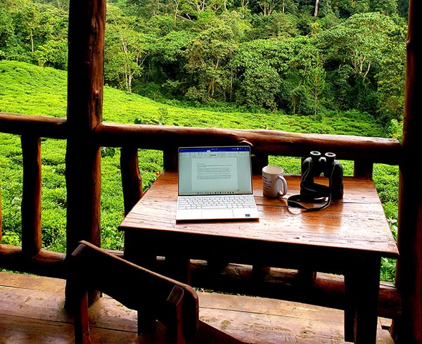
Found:
[[[92,139],[103,120],[106,0],[70,0],[68,58],[68,254],[80,240],[101,245],[101,151]]]

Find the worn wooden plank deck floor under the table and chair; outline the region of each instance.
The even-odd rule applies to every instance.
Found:
[[[0,343],[74,343],[73,324],[63,309],[65,281],[0,272]],[[267,298],[199,292],[200,319],[244,343],[345,343],[343,312]],[[110,298],[91,307],[95,343],[127,343],[136,314]],[[380,319],[377,344],[393,344]]]

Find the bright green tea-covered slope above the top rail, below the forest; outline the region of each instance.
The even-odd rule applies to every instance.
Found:
[[[169,103],[174,103],[169,101]],[[67,72],[16,61],[0,60],[0,111],[65,117]],[[137,94],[104,87],[103,120],[118,123],[162,123],[188,127],[274,129],[286,132],[383,136],[373,118],[356,112],[313,116],[283,113],[245,113],[182,108]]]

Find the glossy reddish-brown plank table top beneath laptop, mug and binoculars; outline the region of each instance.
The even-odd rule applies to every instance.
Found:
[[[381,257],[398,257],[395,239],[371,179],[344,177],[342,200],[333,200],[325,210],[302,212],[287,206],[288,196],[300,191],[300,176],[285,177],[288,193],[283,198],[262,196],[261,176],[253,177],[259,221],[176,222],[177,172],[166,171],[127,214],[119,229],[347,248]],[[321,177],[320,181],[325,180]]]

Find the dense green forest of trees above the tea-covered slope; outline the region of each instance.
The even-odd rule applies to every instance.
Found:
[[[67,68],[68,0],[2,0],[0,60]],[[395,127],[405,0],[109,0],[105,81],[169,105]]]

